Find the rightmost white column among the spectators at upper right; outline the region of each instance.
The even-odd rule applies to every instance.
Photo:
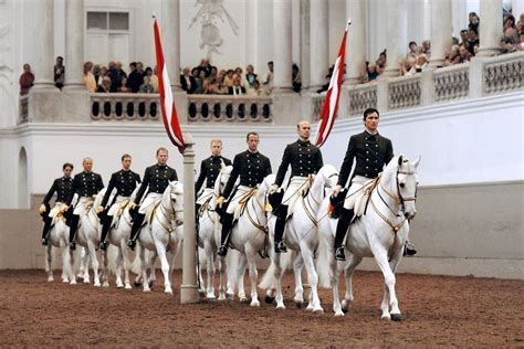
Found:
[[[491,56],[501,50],[502,0],[480,0],[479,56]]]

